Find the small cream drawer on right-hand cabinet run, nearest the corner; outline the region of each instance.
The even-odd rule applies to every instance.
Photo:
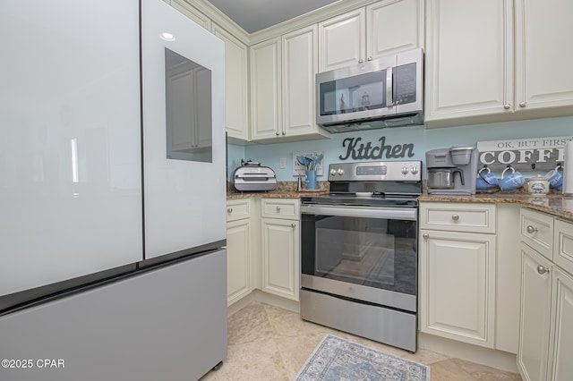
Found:
[[[519,216],[521,241],[539,251],[543,257],[553,258],[553,217],[535,210],[522,208]]]

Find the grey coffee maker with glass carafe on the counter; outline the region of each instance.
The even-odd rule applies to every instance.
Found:
[[[475,147],[455,146],[426,152],[428,194],[475,194],[477,160]]]

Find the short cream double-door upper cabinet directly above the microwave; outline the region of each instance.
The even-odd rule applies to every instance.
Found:
[[[423,47],[423,0],[384,0],[319,22],[319,71]]]

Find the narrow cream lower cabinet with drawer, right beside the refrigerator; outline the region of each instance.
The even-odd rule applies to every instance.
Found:
[[[227,306],[252,292],[251,199],[227,201]]]

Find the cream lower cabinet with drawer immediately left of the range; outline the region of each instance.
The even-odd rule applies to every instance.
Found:
[[[261,200],[262,291],[298,301],[299,199]]]

